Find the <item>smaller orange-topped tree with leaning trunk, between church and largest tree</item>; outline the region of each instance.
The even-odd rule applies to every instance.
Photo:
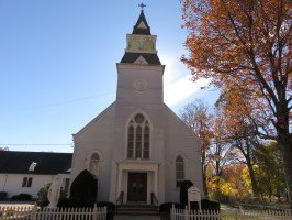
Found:
[[[260,145],[255,124],[261,123],[260,116],[254,109],[261,106],[256,106],[259,102],[250,99],[248,94],[249,91],[246,91],[244,88],[222,89],[221,98],[216,102],[221,114],[217,139],[229,144],[231,152],[236,150],[234,157],[238,157],[238,154],[242,155],[237,160],[242,164],[246,164],[251,180],[252,193],[255,196],[259,196],[260,191],[254,170],[254,158],[256,147]],[[250,100],[252,100],[252,103],[250,103]]]

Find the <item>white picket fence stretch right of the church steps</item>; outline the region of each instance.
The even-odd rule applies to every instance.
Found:
[[[228,211],[189,211],[186,209],[171,208],[170,220],[292,220],[290,210],[240,210],[237,212]]]

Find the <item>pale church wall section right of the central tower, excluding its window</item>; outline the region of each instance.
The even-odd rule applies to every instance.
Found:
[[[184,179],[191,180],[203,193],[201,168],[201,142],[199,138],[168,107],[165,108],[166,142],[166,201],[179,201],[176,187],[176,156],[184,160]]]

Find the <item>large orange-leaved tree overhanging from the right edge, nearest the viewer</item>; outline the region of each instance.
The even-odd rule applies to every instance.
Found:
[[[218,88],[249,88],[265,101],[273,139],[281,151],[292,198],[290,0],[181,0],[189,31],[182,57],[193,80],[210,78]],[[265,113],[265,112],[262,112]],[[263,117],[267,117],[266,113]],[[290,199],[292,208],[292,199]]]

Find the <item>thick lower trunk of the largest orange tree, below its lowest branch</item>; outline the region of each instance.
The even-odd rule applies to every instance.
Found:
[[[283,135],[283,134],[282,134]],[[279,136],[282,136],[279,135]],[[289,188],[289,202],[290,208],[292,210],[292,141],[290,135],[288,135],[287,139],[279,139],[278,140],[279,148],[281,150],[282,157],[283,157],[283,164],[284,164],[284,172],[285,172],[285,178],[288,183]]]

